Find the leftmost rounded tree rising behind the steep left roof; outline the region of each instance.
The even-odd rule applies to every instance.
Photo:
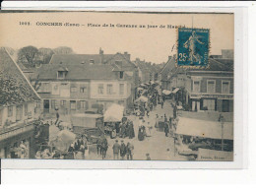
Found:
[[[34,46],[26,46],[19,50],[18,52],[18,62],[28,62],[30,67],[34,67],[36,64],[36,59],[38,59],[38,49]]]

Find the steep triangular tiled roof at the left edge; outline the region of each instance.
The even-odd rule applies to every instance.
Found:
[[[40,100],[18,64],[5,48],[0,49],[0,105]]]

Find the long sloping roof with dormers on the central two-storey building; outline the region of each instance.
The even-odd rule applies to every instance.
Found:
[[[57,72],[59,71],[60,64],[45,64],[34,74],[34,77],[39,75],[39,80],[57,80]],[[65,80],[116,80],[116,73],[113,71],[112,65],[106,64],[69,64],[63,65],[68,72],[65,76]],[[62,71],[62,70],[61,70]],[[32,77],[32,79],[34,79]],[[124,75],[126,78],[126,75]]]

